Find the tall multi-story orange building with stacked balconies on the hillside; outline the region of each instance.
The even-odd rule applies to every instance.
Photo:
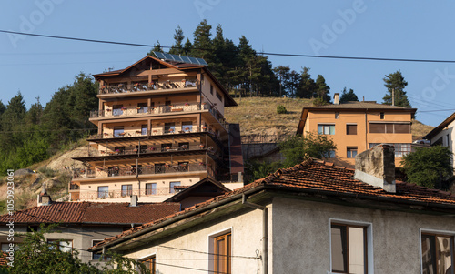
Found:
[[[75,158],[86,167],[74,172],[72,200],[163,200],[206,177],[239,181],[239,127],[224,118],[237,103],[204,60],[157,53],[94,77],[99,107],[90,121],[98,131],[87,156]]]

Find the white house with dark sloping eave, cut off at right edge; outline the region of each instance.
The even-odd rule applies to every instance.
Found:
[[[455,113],[447,117],[438,127],[433,128],[424,138],[430,140],[431,146],[449,147],[452,153],[455,152]],[[451,158],[452,167],[455,168],[453,157]]]

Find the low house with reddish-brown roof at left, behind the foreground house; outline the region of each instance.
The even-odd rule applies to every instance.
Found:
[[[31,232],[30,228],[37,230],[42,223],[58,223],[56,232],[45,234],[45,239],[57,242],[63,251],[76,250],[84,263],[96,263],[101,256],[87,251],[96,243],[178,211],[179,203],[53,202],[47,199],[42,206],[17,211],[13,216],[0,216],[0,244],[5,252],[12,243],[6,226],[12,218],[14,231],[19,234],[14,237],[15,249],[23,241],[20,234]]]

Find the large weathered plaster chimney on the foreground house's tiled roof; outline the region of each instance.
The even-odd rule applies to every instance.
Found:
[[[358,154],[354,178],[395,193],[395,147],[380,144]]]

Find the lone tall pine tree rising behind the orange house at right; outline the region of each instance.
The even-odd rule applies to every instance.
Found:
[[[404,80],[400,71],[390,73],[383,78],[384,86],[387,87],[387,94],[382,99],[383,104],[392,105],[392,91],[395,93],[395,106],[397,107],[411,107],[408,96],[404,88],[408,86],[408,82]]]

